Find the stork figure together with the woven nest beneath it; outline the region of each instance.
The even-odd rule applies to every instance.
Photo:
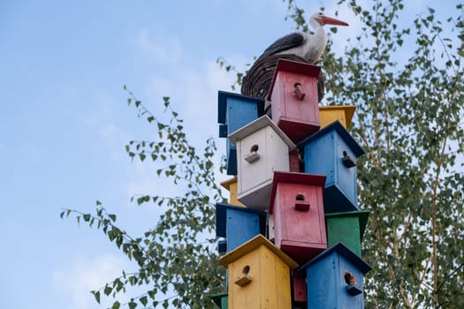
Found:
[[[327,17],[322,12],[311,15],[309,25],[314,30],[313,33],[298,31],[287,34],[264,50],[243,78],[241,94],[265,98],[279,58],[316,64],[327,45],[327,34],[323,26],[348,26],[346,22]],[[319,101],[323,98],[322,78],[318,79],[318,97]]]

